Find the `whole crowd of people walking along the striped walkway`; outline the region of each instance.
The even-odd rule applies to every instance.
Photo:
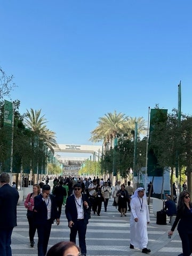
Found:
[[[17,203],[19,193],[15,186],[10,186],[10,177],[7,173],[0,175],[0,255],[11,256],[11,234],[17,226]],[[130,215],[130,249],[139,248],[142,253],[150,253],[148,245],[147,225],[149,219],[149,209],[147,194],[144,188],[139,187],[135,191],[131,182],[127,184],[117,180],[114,188],[111,188],[110,180],[91,178],[75,179],[71,177],[55,177],[53,188],[49,185],[50,179],[47,176],[39,184],[33,185],[33,192],[29,193],[24,205],[27,209],[27,219],[29,223],[29,242],[34,247],[34,236],[37,231],[38,256],[86,256],[86,229],[91,213],[101,216],[102,203],[105,212],[109,198],[113,197],[113,205],[121,214],[126,217],[127,211]],[[14,185],[14,184],[13,184]],[[148,193],[153,193],[153,184],[149,183]],[[187,186],[183,183],[183,191],[179,195],[178,206],[166,194],[166,201],[163,211],[167,216],[175,215],[169,235],[173,235],[175,227],[178,225],[178,232],[182,242],[183,253],[180,256],[189,256],[192,253],[192,204]],[[7,204],[9,202],[9,205]],[[54,222],[59,225],[61,209],[65,206],[65,214],[70,229],[69,241],[60,242],[52,246],[47,251],[51,227]],[[11,211],[10,211],[11,207]],[[3,210],[2,210],[3,209]],[[10,220],[11,221],[8,221]],[[6,221],[7,220],[7,221]],[[7,224],[8,223],[8,224]],[[5,226],[6,225],[6,226]],[[79,247],[76,245],[78,234]]]

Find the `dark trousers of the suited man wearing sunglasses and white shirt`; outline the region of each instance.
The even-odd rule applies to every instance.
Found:
[[[82,254],[86,254],[86,226],[87,225],[85,224],[84,220],[77,220],[73,227],[70,228],[70,242],[74,242],[76,244],[76,236],[78,232],[79,247],[81,248]]]

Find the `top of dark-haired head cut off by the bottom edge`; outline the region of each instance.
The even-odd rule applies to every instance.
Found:
[[[49,249],[46,256],[81,256],[81,251],[73,242],[59,242]]]

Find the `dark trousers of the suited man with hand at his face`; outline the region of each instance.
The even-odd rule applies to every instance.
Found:
[[[47,251],[47,245],[49,243],[49,237],[51,233],[52,221],[47,220],[43,225],[37,225],[38,234],[38,256],[45,256]]]

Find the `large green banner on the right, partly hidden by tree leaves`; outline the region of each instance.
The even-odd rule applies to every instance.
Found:
[[[158,125],[158,123],[166,122],[166,118],[167,109],[150,110],[149,148],[150,140],[153,137],[153,130],[155,125]],[[150,148],[150,150],[148,151],[147,174],[148,177],[161,177],[163,175],[163,168],[158,166],[158,159],[154,153],[153,148]]]

